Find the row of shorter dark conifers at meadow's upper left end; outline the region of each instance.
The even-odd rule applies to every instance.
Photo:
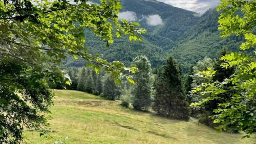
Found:
[[[54,84],[48,81],[49,86],[52,89],[79,90],[110,100],[119,99],[121,96],[121,86],[115,83],[111,74],[97,74],[89,67],[70,67],[68,75],[71,85],[63,86],[61,83]]]

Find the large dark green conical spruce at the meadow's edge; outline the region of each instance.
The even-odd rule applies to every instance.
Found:
[[[157,73],[153,110],[165,117],[188,120],[189,104],[182,87],[182,72],[170,56]]]

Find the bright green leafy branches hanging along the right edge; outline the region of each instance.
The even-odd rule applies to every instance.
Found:
[[[246,0],[221,0],[217,11],[222,11],[219,17],[219,30],[221,37],[228,37],[231,34],[244,36],[245,42],[240,46],[241,50],[253,49],[256,46],[256,35],[253,28],[256,25],[256,1]],[[241,14],[237,14],[240,13]],[[254,51],[254,54],[256,52]],[[230,53],[221,57],[224,61],[223,68],[236,68],[235,73],[223,82],[203,83],[201,87],[194,88],[194,92],[201,92],[207,96],[202,102],[191,105],[201,105],[208,101],[219,99],[218,95],[228,96],[222,99],[224,102],[218,104],[218,108],[213,110],[216,113],[212,118],[215,123],[221,123],[217,130],[244,130],[250,137],[256,128],[256,59],[254,54],[244,54],[241,52]],[[216,71],[201,72],[204,77],[214,76]],[[243,137],[243,138],[244,138]]]

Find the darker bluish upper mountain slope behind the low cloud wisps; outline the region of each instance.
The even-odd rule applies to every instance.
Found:
[[[146,39],[148,38],[147,36],[160,36],[169,39],[170,42],[176,41],[184,32],[188,31],[191,26],[195,25],[198,20],[198,17],[195,17],[195,12],[173,7],[154,0],[121,0],[121,2],[123,5],[122,11],[135,12],[141,26],[147,29]],[[145,17],[152,15],[159,15],[163,23],[160,25],[148,24],[148,19]],[[151,18],[150,20],[156,21],[157,19]],[[160,47],[162,47],[162,45]],[[172,45],[170,45],[170,47],[172,47]]]

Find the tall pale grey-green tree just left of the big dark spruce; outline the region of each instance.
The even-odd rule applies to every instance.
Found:
[[[132,88],[132,106],[136,110],[148,109],[151,104],[151,65],[146,56],[137,56],[132,66],[138,68],[134,75],[135,86]]]

